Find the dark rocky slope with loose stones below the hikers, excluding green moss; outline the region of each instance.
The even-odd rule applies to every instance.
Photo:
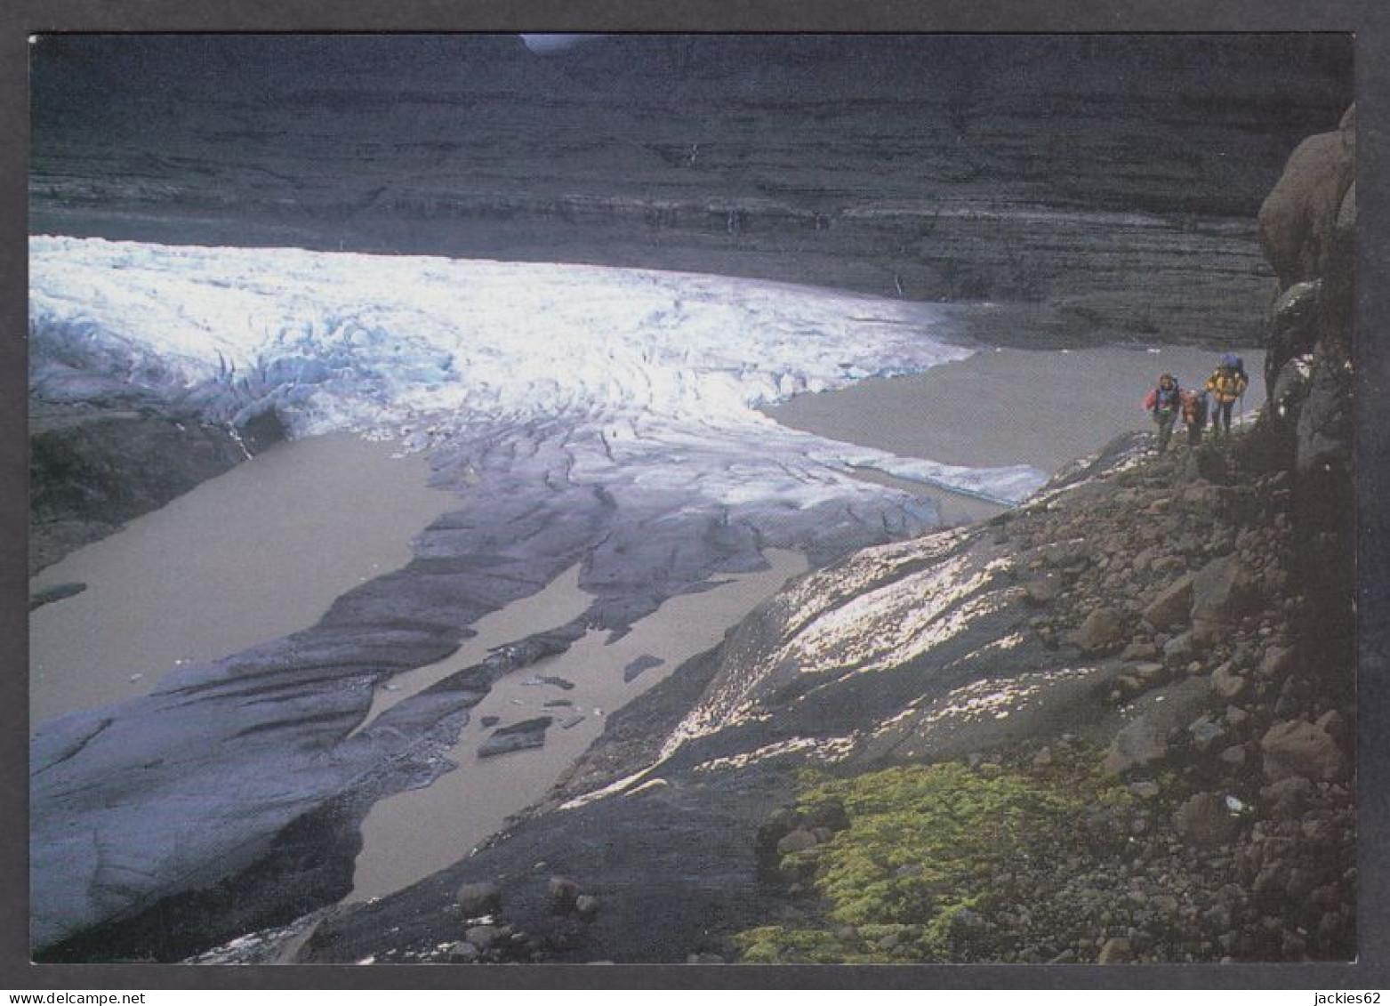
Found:
[[[614,717],[548,806],[322,923],[302,959],[731,960],[734,934],[776,923],[801,937],[755,959],[920,960],[930,912],[827,921],[816,850],[841,839],[792,810],[798,771],[952,761],[1113,782],[1065,855],[970,863],[986,893],[938,959],[1350,957],[1352,677],[1295,629],[1291,479],[1268,457],[1118,443],[1004,518],[809,574]],[[498,910],[460,903],[477,884]]]

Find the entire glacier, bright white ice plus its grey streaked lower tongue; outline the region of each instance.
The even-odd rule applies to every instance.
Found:
[[[467,771],[448,752],[502,674],[769,568],[767,549],[820,566],[940,524],[930,500],[858,468],[1002,503],[1045,478],[897,457],[758,410],[974,352],[931,304],[569,264],[43,236],[29,249],[33,395],[133,390],[170,415],[274,411],[292,436],[396,439],[457,495],[406,567],[316,625],[152,667],[147,695],[38,724],[32,935],[51,959],[122,941],[177,957],[332,903],[375,802]],[[378,688],[575,564],[582,614],[364,723]],[[232,895],[236,912],[217,900]],[[171,928],[174,898],[215,925],[196,941]]]

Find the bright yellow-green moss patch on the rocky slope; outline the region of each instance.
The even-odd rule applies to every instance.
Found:
[[[1129,793],[1076,754],[1027,770],[959,761],[853,778],[808,773],[798,810],[841,803],[849,827],[783,859],[820,900],[801,924],[734,943],[746,963],[944,962],[976,956],[992,878],[1074,841],[1077,817]]]

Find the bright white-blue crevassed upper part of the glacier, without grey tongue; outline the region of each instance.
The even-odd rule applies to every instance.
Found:
[[[851,467],[1001,503],[1044,481],[788,431],[758,406],[972,350],[913,304],[781,283],[591,265],[31,238],[31,384],[74,371],[293,435],[413,446],[559,422],[573,478],[724,506],[894,490]],[[681,465],[692,465],[681,474]]]

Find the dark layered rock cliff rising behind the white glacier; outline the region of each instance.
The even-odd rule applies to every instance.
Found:
[[[54,38],[32,226],[745,275],[1012,304],[992,339],[1254,345],[1250,220],[1350,67],[1346,38],[1276,35],[552,57],[509,36]]]

